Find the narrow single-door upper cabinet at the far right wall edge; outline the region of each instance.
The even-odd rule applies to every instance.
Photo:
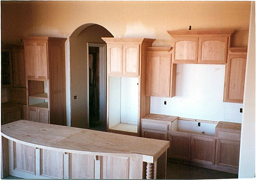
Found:
[[[247,48],[228,49],[225,68],[224,102],[243,103]]]

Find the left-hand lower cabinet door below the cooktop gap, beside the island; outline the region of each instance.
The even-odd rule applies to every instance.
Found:
[[[186,134],[170,133],[170,158],[190,161],[191,158],[191,136]]]

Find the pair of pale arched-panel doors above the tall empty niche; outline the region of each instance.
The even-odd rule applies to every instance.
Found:
[[[110,75],[138,76],[140,68],[140,45],[138,42],[103,38],[108,41],[108,73]]]

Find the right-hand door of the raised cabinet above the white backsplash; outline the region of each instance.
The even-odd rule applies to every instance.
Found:
[[[228,37],[200,37],[198,63],[225,64]]]

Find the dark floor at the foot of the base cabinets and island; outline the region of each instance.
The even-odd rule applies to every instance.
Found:
[[[167,161],[166,179],[227,179],[238,178],[238,174],[221,172],[196,166]],[[8,176],[4,179],[20,179]]]

